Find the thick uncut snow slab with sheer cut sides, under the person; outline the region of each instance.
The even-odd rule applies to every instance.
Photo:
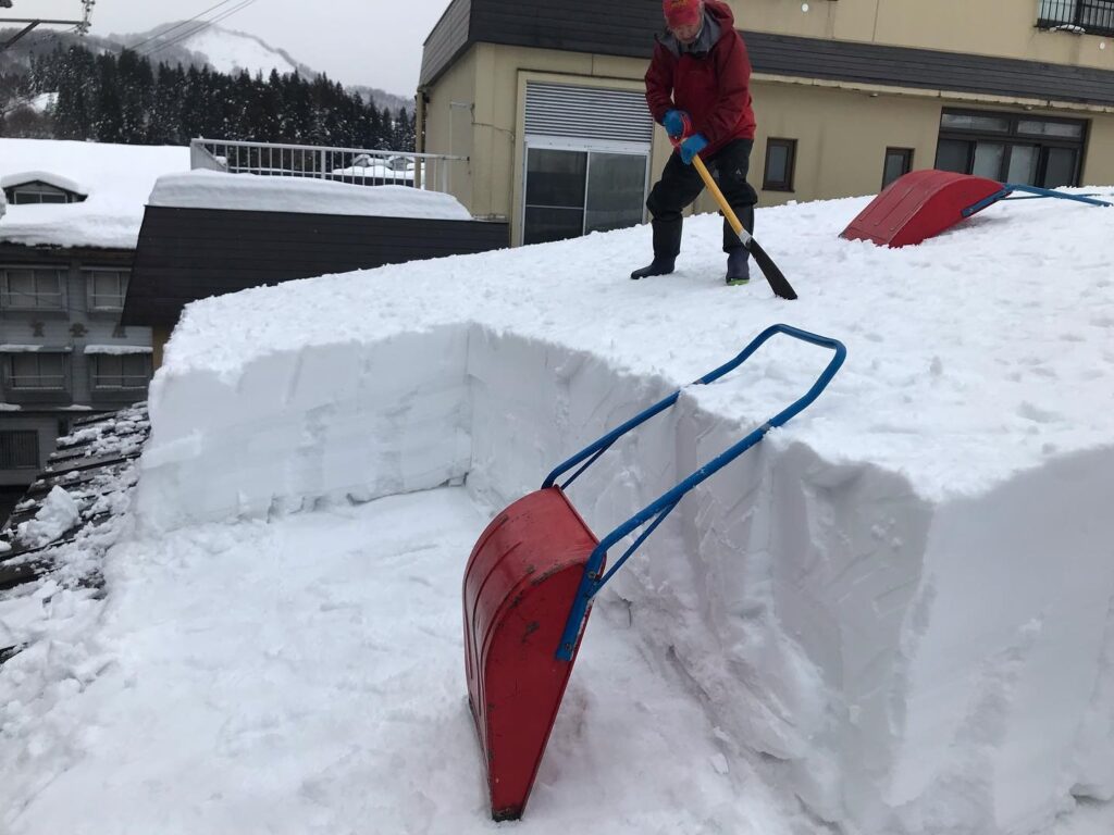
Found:
[[[867,199],[759,212],[795,302],[756,272],[723,286],[703,216],[642,282],[646,226],[189,305],[152,386],[140,530],[463,479],[498,508],[766,326],[837,337],[828,391],[604,599],[632,655],[683,668],[729,760],[769,755],[844,832],[1047,831],[1114,796],[1114,210],[1010,202],[887,249],[838,237]],[[685,389],[574,504],[603,537],[830,356],[779,336]]]

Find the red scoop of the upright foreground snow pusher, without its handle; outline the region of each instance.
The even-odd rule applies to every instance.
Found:
[[[557,647],[597,544],[565,493],[547,488],[496,517],[468,560],[465,667],[496,821],[521,817],[530,796],[576,662],[576,651],[558,660]]]

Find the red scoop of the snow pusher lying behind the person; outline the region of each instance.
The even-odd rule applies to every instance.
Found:
[[[919,244],[966,219],[966,209],[1003,188],[997,180],[969,174],[910,171],[871,200],[840,237],[890,247]]]

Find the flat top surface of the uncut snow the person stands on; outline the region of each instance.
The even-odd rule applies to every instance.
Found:
[[[275,352],[476,322],[684,383],[784,322],[849,351],[823,407],[783,430],[830,461],[871,462],[939,497],[1114,443],[1114,209],[1006,202],[889,249],[838,236],[868,199],[759,210],[758,239],[795,302],[758,271],[725,287],[720,219],[702,216],[686,225],[677,272],[642,282],[627,274],[649,258],[648,226],[198,302],[160,373],[235,377]],[[821,353],[771,345],[752,361],[756,381],[697,396],[764,420],[808,389]]]

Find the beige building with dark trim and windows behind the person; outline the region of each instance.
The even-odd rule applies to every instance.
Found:
[[[760,205],[946,168],[1114,183],[1114,0],[730,0],[754,68]],[[617,228],[672,148],[643,76],[656,0],[452,0],[426,41],[420,150],[515,244]],[[711,200],[697,210],[714,210]]]

